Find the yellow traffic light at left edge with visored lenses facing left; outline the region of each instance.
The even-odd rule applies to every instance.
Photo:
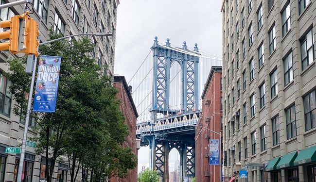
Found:
[[[9,50],[18,53],[18,29],[20,16],[11,17],[11,20],[0,21],[0,28],[10,28],[1,32],[0,39],[9,39],[9,42],[0,43],[0,50]]]

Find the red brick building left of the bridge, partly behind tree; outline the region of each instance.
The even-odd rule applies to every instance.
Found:
[[[128,127],[129,135],[123,144],[123,148],[133,149],[135,155],[138,153],[136,143],[136,119],[138,113],[124,76],[114,76],[113,86],[119,91],[117,98],[121,101],[120,110],[125,116],[125,124]],[[111,178],[109,182],[137,182],[137,167],[128,171],[126,178]]]

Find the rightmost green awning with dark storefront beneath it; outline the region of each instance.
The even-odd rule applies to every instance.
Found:
[[[307,170],[307,181],[316,182],[316,146],[301,150],[294,165],[303,165]]]

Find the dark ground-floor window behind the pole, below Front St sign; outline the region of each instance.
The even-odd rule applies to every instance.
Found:
[[[18,178],[18,165],[19,165],[19,160],[16,159],[16,163],[14,165],[14,176],[13,176],[14,182],[17,182],[17,178]],[[32,182],[33,165],[34,163],[31,163],[28,161],[23,162],[22,182]]]

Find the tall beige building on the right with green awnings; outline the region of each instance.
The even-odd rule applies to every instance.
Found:
[[[222,0],[227,181],[316,180],[316,1]]]

